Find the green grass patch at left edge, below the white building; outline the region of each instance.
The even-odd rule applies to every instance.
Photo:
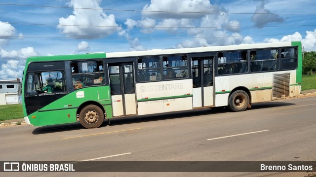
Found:
[[[23,118],[22,104],[0,105],[0,122]]]

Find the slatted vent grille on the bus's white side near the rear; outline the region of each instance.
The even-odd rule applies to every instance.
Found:
[[[290,73],[273,75],[273,99],[289,97]]]

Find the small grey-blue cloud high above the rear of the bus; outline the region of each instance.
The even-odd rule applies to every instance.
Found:
[[[284,21],[282,17],[275,13],[272,13],[270,10],[265,8],[265,4],[268,3],[268,0],[256,1],[260,1],[261,4],[257,6],[255,13],[251,17],[251,20],[254,22],[255,27],[263,28],[263,26],[267,25],[268,23],[282,23]]]

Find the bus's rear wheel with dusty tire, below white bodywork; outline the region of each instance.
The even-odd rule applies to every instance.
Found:
[[[238,112],[245,110],[249,105],[249,96],[243,90],[235,91],[228,99],[230,110]]]

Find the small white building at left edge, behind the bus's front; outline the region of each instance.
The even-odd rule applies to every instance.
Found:
[[[0,105],[19,104],[21,101],[21,81],[0,80]]]

